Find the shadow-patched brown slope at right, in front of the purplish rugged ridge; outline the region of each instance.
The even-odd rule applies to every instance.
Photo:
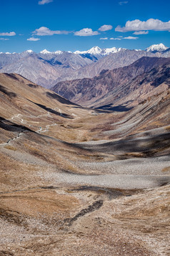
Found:
[[[113,106],[126,106],[131,108],[147,98],[158,95],[170,87],[170,63],[154,67],[149,72],[138,75],[133,80],[126,82],[118,88],[104,95],[104,98],[96,100],[96,107],[104,103],[102,109],[111,109]]]

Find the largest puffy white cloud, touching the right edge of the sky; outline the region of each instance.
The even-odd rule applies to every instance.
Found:
[[[117,26],[115,31],[117,32],[129,32],[129,31],[143,31],[143,30],[155,30],[155,31],[170,31],[170,21],[161,22],[159,19],[148,19],[146,22],[141,22],[139,19],[126,22],[125,27]]]

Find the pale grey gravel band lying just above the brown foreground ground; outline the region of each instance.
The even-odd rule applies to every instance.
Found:
[[[170,183],[166,175],[80,175],[80,174],[46,174],[46,179],[52,179],[55,186],[71,184],[73,186],[101,186],[112,189],[147,189]]]

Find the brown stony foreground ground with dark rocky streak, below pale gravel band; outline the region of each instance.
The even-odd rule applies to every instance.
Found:
[[[169,255],[169,189],[1,194],[1,255]]]

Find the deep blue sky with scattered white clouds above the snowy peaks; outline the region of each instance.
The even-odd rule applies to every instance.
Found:
[[[169,0],[0,0],[0,52],[170,47]]]

